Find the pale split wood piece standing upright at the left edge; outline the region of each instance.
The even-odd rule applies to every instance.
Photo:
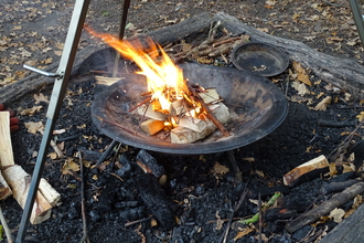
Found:
[[[0,112],[0,162],[1,167],[14,165],[14,157],[11,146],[10,136],[10,114],[9,112]]]

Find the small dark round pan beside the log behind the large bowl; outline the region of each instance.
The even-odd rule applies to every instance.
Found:
[[[267,77],[282,73],[289,65],[286,53],[261,42],[248,42],[236,46],[232,53],[232,61],[238,70]]]

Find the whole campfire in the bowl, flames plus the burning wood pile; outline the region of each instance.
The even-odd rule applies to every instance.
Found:
[[[99,34],[85,29],[132,60],[147,77],[147,96],[129,112],[141,116],[140,128],[153,136],[159,131],[170,131],[171,142],[190,144],[203,139],[216,128],[224,136],[229,136],[224,128],[229,118],[228,108],[214,88],[204,88],[197,84],[189,84],[182,70],[173,64],[163,49],[151,39],[148,46],[140,42],[120,41],[109,34]]]

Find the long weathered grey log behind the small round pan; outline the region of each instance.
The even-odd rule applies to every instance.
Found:
[[[223,12],[216,13],[213,19],[222,21],[222,27],[233,34],[244,33],[250,35],[251,41],[265,42],[281,49],[291,61],[301,63],[303,67],[309,67],[319,80],[350,92],[354,98],[364,98],[364,68],[357,62],[330,56],[299,41],[264,33]]]

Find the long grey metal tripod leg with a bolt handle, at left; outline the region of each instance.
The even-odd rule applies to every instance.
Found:
[[[23,215],[20,222],[17,243],[22,243],[25,239],[26,229],[29,225],[30,215],[35,201],[36,191],[41,180],[41,176],[44,169],[45,156],[50,146],[50,140],[52,138],[52,133],[55,126],[55,120],[58,117],[60,109],[63,103],[63,98],[67,88],[67,84],[71,76],[72,66],[77,52],[77,45],[79,42],[81,32],[86,19],[86,13],[88,10],[90,0],[76,0],[73,15],[71,19],[67,38],[65,41],[64,50],[60,61],[57,73],[61,77],[55,80],[51,101],[47,109],[47,120],[44,129],[43,139],[39,150],[39,156],[36,158],[35,168],[33,171],[32,181],[30,183],[28,198],[23,211]]]

